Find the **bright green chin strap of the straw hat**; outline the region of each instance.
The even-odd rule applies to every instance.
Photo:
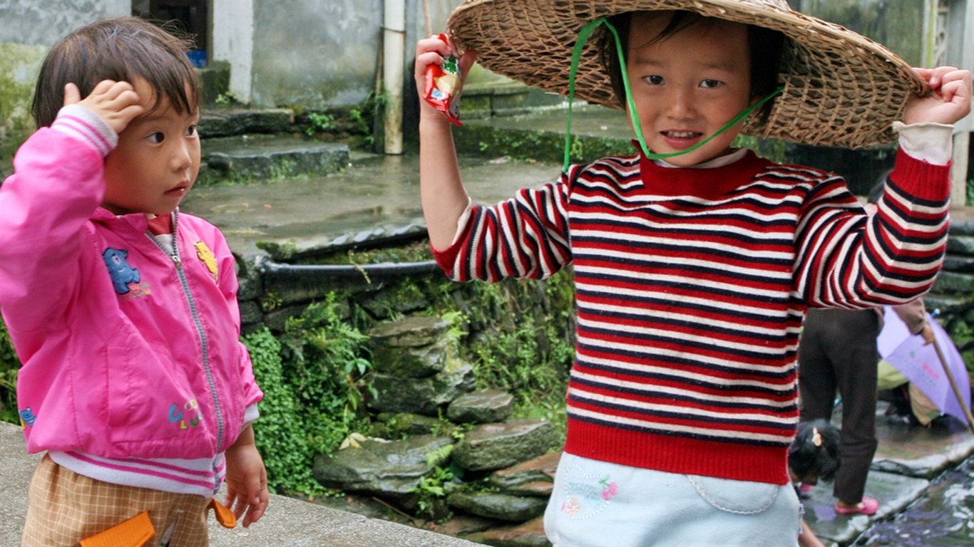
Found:
[[[727,125],[724,126],[723,128],[720,128],[716,133],[694,144],[692,147],[686,150],[682,150],[680,152],[674,152],[672,154],[654,154],[650,152],[649,148],[646,147],[646,139],[643,137],[643,128],[639,123],[639,114],[636,112],[636,102],[632,98],[632,89],[629,86],[629,75],[625,67],[625,55],[623,55],[624,52],[622,51],[622,41],[618,37],[618,31],[616,30],[616,27],[613,26],[612,23],[610,23],[606,18],[597,18],[581,28],[581,31],[579,32],[579,40],[575,43],[575,49],[572,51],[572,67],[571,70],[569,71],[569,80],[568,80],[568,122],[565,128],[565,163],[562,165],[562,170],[564,170],[565,172],[568,172],[569,149],[572,144],[572,103],[575,100],[575,76],[576,73],[579,71],[581,50],[582,48],[584,48],[585,42],[588,41],[588,37],[591,36],[592,32],[600,24],[606,25],[606,28],[608,28],[609,31],[612,32],[612,35],[616,39],[616,55],[618,55],[619,72],[621,72],[621,76],[622,76],[622,87],[625,89],[625,101],[629,107],[628,108],[629,119],[632,122],[633,130],[635,130],[636,132],[636,138],[637,140],[639,140],[639,146],[640,149],[643,151],[643,155],[645,155],[650,160],[664,160],[666,158],[673,158],[674,156],[682,156],[683,154],[687,154],[688,152],[693,152],[693,150],[696,150],[697,148],[710,142],[710,139],[736,126],[741,120],[747,118],[748,116],[751,115],[752,112],[754,112],[756,109],[761,107],[761,105],[765,104],[766,102],[774,98],[774,96],[780,93],[781,91],[784,91],[784,87],[771,91],[768,94],[768,96],[754,103],[746,110],[744,110],[743,112],[735,116],[733,120],[728,122]]]

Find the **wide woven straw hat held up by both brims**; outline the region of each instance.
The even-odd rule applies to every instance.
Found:
[[[759,137],[858,148],[892,142],[912,92],[929,88],[910,65],[880,44],[838,24],[793,11],[786,0],[466,0],[447,23],[461,51],[485,68],[545,91],[567,94],[572,49],[581,27],[634,11],[686,10],[778,30],[785,41],[768,120],[752,117],[741,132]],[[604,29],[604,27],[602,27]],[[619,108],[589,40],[576,96]]]

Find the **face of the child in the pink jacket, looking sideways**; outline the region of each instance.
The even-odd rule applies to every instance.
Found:
[[[199,112],[179,114],[156,96],[145,80],[133,82],[148,114],[119,133],[119,145],[105,158],[105,198],[115,214],[172,212],[193,187],[200,171]]]

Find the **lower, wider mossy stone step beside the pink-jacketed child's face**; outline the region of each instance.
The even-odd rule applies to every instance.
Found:
[[[345,144],[283,135],[240,135],[206,139],[198,184],[271,182],[324,176],[349,163]]]

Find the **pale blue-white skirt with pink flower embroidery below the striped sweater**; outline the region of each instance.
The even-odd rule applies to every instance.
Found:
[[[796,547],[789,485],[664,473],[564,454],[544,512],[554,547]]]

